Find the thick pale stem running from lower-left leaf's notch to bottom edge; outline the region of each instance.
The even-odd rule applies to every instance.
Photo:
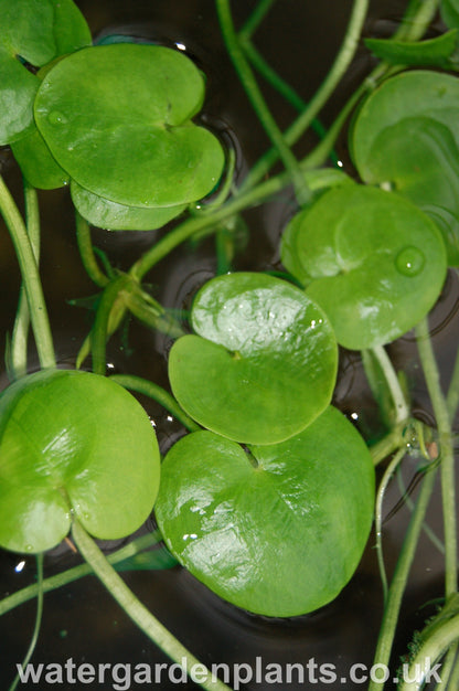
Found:
[[[150,640],[180,665],[192,679],[194,666],[199,666],[202,672],[204,666],[139,602],[77,520],[74,520],[72,534],[79,552],[90,564],[99,581]],[[202,679],[201,676],[200,679]],[[193,681],[209,691],[228,691],[228,687],[210,670],[207,670],[205,681],[198,681],[198,679]]]

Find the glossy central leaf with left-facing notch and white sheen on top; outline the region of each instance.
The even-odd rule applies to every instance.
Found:
[[[337,343],[322,310],[299,288],[263,274],[226,274],[198,293],[196,334],[169,357],[186,413],[235,442],[274,444],[309,425],[331,401]]]

